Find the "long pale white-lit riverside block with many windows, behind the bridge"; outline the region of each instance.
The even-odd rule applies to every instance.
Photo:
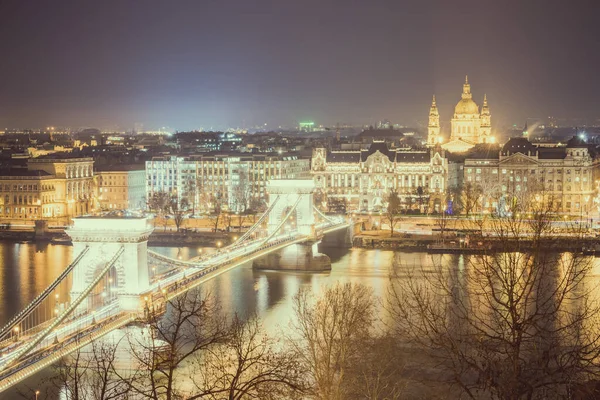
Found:
[[[215,203],[244,211],[265,202],[269,180],[308,175],[309,162],[295,155],[245,153],[155,157],[146,162],[146,198],[166,192],[180,205],[185,199],[193,211],[210,211]]]

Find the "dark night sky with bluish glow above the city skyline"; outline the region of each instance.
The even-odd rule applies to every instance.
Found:
[[[0,126],[600,118],[600,1],[0,2]]]

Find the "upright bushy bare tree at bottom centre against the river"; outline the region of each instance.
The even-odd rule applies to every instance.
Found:
[[[308,371],[312,395],[323,400],[349,397],[349,371],[370,335],[375,301],[363,285],[337,284],[315,299],[307,289],[294,297],[294,337],[288,342]]]

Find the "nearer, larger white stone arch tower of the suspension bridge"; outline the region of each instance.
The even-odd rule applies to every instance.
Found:
[[[147,218],[74,218],[73,225],[67,229],[73,253],[79,254],[85,247],[89,250],[73,270],[71,299],[77,298],[98,271],[122,249],[114,263],[112,290],[122,310],[139,311],[141,295],[150,289],[148,237],[152,229]]]

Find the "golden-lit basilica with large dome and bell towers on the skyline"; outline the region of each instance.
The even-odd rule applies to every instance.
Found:
[[[435,97],[429,112],[428,145],[441,143],[439,113]],[[461,99],[454,108],[454,117],[450,123],[450,140],[443,144],[443,148],[453,153],[469,150],[478,143],[493,143],[491,114],[487,96],[483,97],[481,112],[473,100],[469,79],[465,78]]]

